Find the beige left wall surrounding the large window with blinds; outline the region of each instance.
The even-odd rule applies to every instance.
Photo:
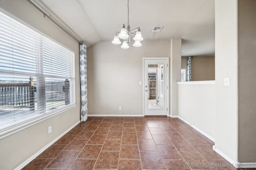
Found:
[[[0,140],[0,169],[11,170],[80,120],[79,43],[26,0],[0,0],[0,7],[75,52],[77,106]],[[52,125],[52,133],[48,127]]]

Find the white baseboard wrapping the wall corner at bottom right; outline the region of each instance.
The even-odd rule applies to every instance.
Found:
[[[234,166],[236,168],[256,168],[256,162],[245,162],[245,163],[235,162],[230,157],[228,157],[226,154],[224,154],[223,152],[218,150],[215,146],[212,146],[212,149],[215,150],[215,152],[220,154],[220,156],[225,158],[228,162],[230,162],[230,164],[232,164],[232,166]]]

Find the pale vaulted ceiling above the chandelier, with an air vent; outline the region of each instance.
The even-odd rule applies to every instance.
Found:
[[[122,24],[127,25],[127,0],[34,2],[87,47],[111,43]],[[131,29],[140,27],[144,40],[182,38],[182,56],[214,55],[214,0],[130,0],[129,8]],[[152,32],[154,26],[163,29]]]

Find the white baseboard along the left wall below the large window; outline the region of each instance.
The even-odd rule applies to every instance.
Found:
[[[66,131],[64,131],[62,134],[60,134],[58,137],[56,137],[53,141],[51,141],[50,143],[48,143],[45,147],[43,147],[42,149],[40,149],[38,152],[36,152],[36,154],[34,154],[33,156],[31,156],[30,158],[28,158],[25,162],[23,162],[22,164],[20,164],[17,168],[15,168],[14,170],[21,170],[22,168],[24,168],[29,162],[31,162],[32,160],[34,160],[34,158],[36,158],[38,155],[40,155],[42,152],[44,152],[44,150],[46,150],[48,147],[50,147],[52,144],[54,144],[56,141],[58,141],[58,139],[60,139],[62,136],[64,136],[66,133],[68,133],[68,131],[70,131],[71,129],[73,129],[76,125],[78,125],[78,123],[80,123],[80,121],[76,122],[74,125],[72,125],[70,128],[68,128]]]

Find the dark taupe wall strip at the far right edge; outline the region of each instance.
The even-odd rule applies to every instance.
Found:
[[[238,0],[238,161],[256,162],[256,1]]]

